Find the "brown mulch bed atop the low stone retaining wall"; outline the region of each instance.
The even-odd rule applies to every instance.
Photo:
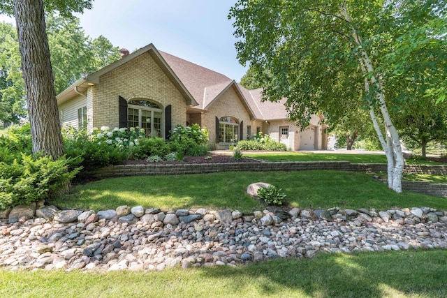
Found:
[[[211,157],[211,158],[210,158]],[[261,163],[253,158],[244,158],[240,161],[236,161],[233,156],[230,155],[217,155],[212,154],[210,156],[184,156],[184,161],[161,161],[158,165],[179,165],[184,163]],[[123,161],[123,165],[150,165],[145,159],[138,159],[135,161]]]

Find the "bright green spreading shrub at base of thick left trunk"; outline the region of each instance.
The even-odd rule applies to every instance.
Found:
[[[50,199],[68,189],[79,169],[68,170],[70,160],[61,157],[32,157],[0,163],[0,209]]]

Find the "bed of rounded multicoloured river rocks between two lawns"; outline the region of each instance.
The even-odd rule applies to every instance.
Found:
[[[0,267],[71,271],[235,266],[316,253],[447,248],[447,212],[161,211],[141,206],[60,211],[0,221]]]

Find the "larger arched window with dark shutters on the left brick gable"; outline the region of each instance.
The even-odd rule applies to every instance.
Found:
[[[127,125],[144,128],[147,137],[163,137],[163,107],[150,100],[131,100],[128,103]]]

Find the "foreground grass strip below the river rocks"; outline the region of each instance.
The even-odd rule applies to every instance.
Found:
[[[446,274],[441,250],[161,272],[0,270],[0,297],[447,297]]]

